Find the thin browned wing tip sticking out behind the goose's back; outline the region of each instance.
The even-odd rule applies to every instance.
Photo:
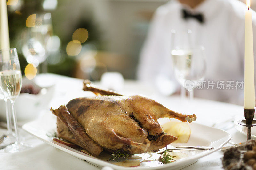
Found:
[[[113,96],[122,96],[122,94],[117,93],[113,90],[108,89],[99,89],[96,85],[92,84],[90,80],[84,80],[84,91],[91,91],[96,95],[113,95]]]

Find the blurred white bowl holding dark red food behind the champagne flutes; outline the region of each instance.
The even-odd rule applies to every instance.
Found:
[[[42,88],[33,81],[23,78],[23,85],[32,84],[36,89],[40,90],[38,94],[21,93],[15,100],[15,108],[18,121],[32,120],[37,118],[40,111],[48,107],[54,93],[54,85]],[[0,94],[0,119],[6,121],[6,111],[4,96]]]

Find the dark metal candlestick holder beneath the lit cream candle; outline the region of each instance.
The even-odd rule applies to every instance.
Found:
[[[247,140],[251,139],[251,127],[256,126],[256,120],[254,120],[254,113],[256,107],[254,109],[245,109],[244,108],[244,120],[239,120],[238,124],[247,127]]]

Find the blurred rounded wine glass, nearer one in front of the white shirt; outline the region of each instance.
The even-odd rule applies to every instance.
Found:
[[[172,50],[175,78],[189,91],[189,99],[194,96],[194,88],[204,79],[206,63],[204,47],[179,48]]]

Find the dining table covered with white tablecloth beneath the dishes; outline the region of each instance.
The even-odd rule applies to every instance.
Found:
[[[49,104],[45,106],[40,113],[33,119],[40,119],[44,114],[51,114],[51,107],[57,108],[59,105],[67,104],[67,102],[76,97],[83,97],[83,80],[61,76],[57,74],[39,74],[37,80],[44,83],[52,83],[54,85],[54,95]],[[104,87],[100,81],[94,82],[99,87]],[[115,82],[113,82],[115,83]],[[148,96],[161,103],[165,107],[185,114],[196,114],[196,123],[212,126],[215,128],[226,129],[231,134],[231,142],[239,143],[246,141],[247,136],[239,132],[232,121],[236,117],[244,115],[243,106],[224,103],[213,100],[194,98],[193,100],[181,99],[180,95],[163,95],[160,94],[156,87],[140,82],[138,80],[124,80],[121,85],[120,93],[125,95],[140,94]],[[33,120],[32,119],[32,120]],[[29,141],[33,147],[17,153],[7,153],[4,149],[0,150],[0,169],[17,169],[17,170],[70,170],[70,169],[86,169],[98,170],[101,167],[92,165],[84,160],[69,155],[53,146],[50,146],[36,137],[31,136],[22,130],[22,124],[32,121],[30,119],[19,122],[19,130],[25,141]],[[0,122],[0,136],[6,132],[4,127],[5,121]],[[193,131],[192,133],[196,133]],[[204,134],[201,134],[204,137]],[[214,134],[212,134],[214,135]],[[227,144],[230,145],[230,144]],[[205,169],[223,169],[221,158],[223,151],[219,150],[207,155],[194,164],[183,168],[184,170],[205,170]],[[134,168],[136,169],[136,168]]]

